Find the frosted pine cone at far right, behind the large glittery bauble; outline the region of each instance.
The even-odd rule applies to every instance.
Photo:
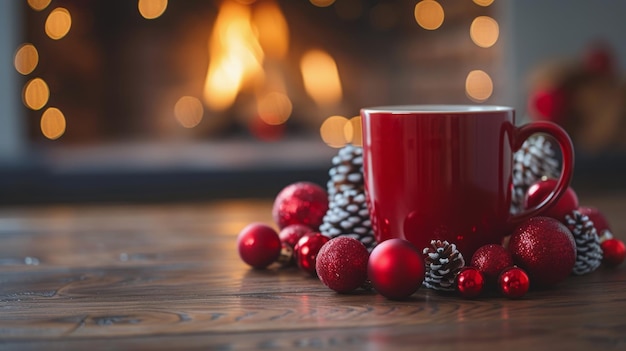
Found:
[[[572,272],[583,275],[595,271],[602,263],[602,248],[593,222],[577,210],[566,215],[565,222],[576,241],[576,264]]]

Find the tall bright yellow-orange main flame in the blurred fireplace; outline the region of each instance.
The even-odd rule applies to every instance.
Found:
[[[263,50],[250,23],[250,8],[233,1],[220,6],[209,38],[204,101],[213,110],[230,107],[244,83],[262,75]]]

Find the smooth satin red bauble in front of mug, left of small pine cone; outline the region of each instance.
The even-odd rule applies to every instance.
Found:
[[[406,240],[385,240],[372,250],[367,274],[381,295],[393,300],[404,299],[416,292],[424,281],[424,258]]]

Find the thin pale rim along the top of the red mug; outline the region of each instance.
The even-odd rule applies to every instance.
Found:
[[[414,113],[429,113],[429,114],[465,114],[474,112],[503,112],[513,111],[513,107],[500,106],[500,105],[457,105],[457,104],[445,104],[445,105],[388,105],[388,106],[375,106],[364,107],[361,109],[367,113],[388,113],[388,114],[414,114]]]

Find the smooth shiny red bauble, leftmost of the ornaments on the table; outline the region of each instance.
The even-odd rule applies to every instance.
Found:
[[[278,233],[262,223],[251,223],[237,236],[239,257],[254,268],[265,268],[275,262],[281,250]]]

